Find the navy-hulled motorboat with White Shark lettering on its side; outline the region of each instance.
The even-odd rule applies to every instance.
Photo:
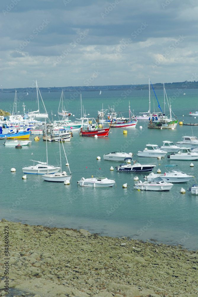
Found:
[[[152,171],[153,168],[156,166],[153,164],[140,164],[140,163],[137,163],[137,160],[133,161],[133,165],[131,165],[127,163],[128,159],[131,159],[133,161],[132,158],[125,158],[124,159],[125,163],[120,164],[120,166],[116,166],[115,169],[117,169],[117,171],[123,171],[123,172],[145,172],[145,171],[149,172],[149,171]]]

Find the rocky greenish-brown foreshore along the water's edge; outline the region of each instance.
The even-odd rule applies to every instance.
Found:
[[[5,219],[0,229],[0,295],[7,282],[21,296],[198,296],[198,250]]]

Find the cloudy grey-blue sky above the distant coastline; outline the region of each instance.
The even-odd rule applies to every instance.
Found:
[[[1,0],[1,88],[198,80],[198,0]]]

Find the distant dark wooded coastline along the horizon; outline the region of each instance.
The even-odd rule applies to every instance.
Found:
[[[35,87],[33,87],[35,85]],[[17,88],[17,89],[0,89],[1,93],[14,93],[17,90],[18,93],[26,93],[26,92],[36,92],[36,82],[33,83],[33,86],[28,88]],[[165,83],[165,89],[198,89],[198,81],[183,81],[180,83]],[[150,86],[152,88],[152,86]],[[155,90],[163,89],[163,83],[155,83],[153,84],[153,88]],[[109,86],[70,86],[70,87],[48,87],[42,88],[39,87],[41,92],[61,92],[62,90],[65,92],[73,92],[73,91],[123,91],[123,90],[148,90],[149,85],[109,85]]]

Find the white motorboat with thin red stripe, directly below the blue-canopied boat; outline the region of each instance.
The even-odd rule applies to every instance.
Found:
[[[173,184],[165,181],[139,181],[133,188],[137,190],[145,191],[169,191],[173,187]]]

